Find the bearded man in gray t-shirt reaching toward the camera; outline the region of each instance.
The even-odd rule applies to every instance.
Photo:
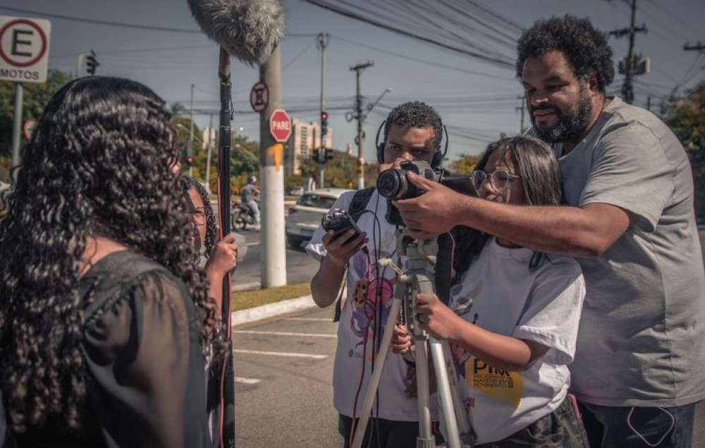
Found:
[[[417,238],[462,224],[577,257],[587,296],[570,371],[591,446],[689,447],[705,277],[685,150],[649,111],[606,96],[612,51],[588,20],[539,20],[517,49],[532,133],[553,144],[569,206],[478,200],[412,174],[427,193],[396,205]]]

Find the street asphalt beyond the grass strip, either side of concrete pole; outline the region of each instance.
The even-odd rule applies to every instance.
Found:
[[[245,261],[238,263],[238,268],[235,270],[233,284],[238,285],[255,285],[259,284],[261,263],[262,263],[262,246],[259,231],[254,230],[238,230],[240,234],[247,238],[247,256]],[[303,283],[311,281],[314,274],[318,270],[318,262],[311,258],[303,249],[293,249],[287,246],[286,248],[286,282],[288,284]]]

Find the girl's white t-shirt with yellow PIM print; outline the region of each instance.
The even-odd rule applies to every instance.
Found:
[[[580,265],[548,255],[532,272],[532,254],[526,248],[503,248],[491,238],[450,291],[454,309],[472,300],[462,315],[468,322],[548,347],[527,370],[513,372],[492,368],[451,344],[478,444],[502,440],[553,412],[570,386],[568,364],[585,296]]]

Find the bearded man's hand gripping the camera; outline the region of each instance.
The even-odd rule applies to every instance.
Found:
[[[445,234],[460,223],[456,216],[465,196],[423,176],[407,173],[407,178],[426,193],[418,198],[394,201],[409,234],[418,240]]]

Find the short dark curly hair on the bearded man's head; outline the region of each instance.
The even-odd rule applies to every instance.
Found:
[[[527,58],[540,58],[551,50],[565,55],[576,78],[585,80],[594,74],[601,93],[615,77],[612,49],[604,33],[587,18],[566,15],[538,20],[522,34],[517,44],[517,78],[522,77]]]

